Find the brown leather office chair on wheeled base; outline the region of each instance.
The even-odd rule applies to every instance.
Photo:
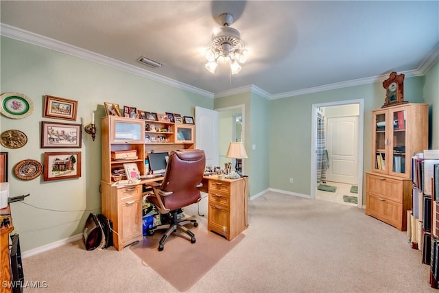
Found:
[[[167,229],[161,237],[158,250],[163,250],[163,244],[167,237],[177,229],[184,231],[191,237],[191,243],[195,243],[195,235],[189,231],[185,224],[193,223],[198,226],[196,220],[178,220],[178,211],[182,207],[193,204],[200,200],[200,187],[206,165],[206,157],[203,150],[175,150],[169,154],[163,182],[148,183],[153,187],[154,195],[148,196],[147,200],[154,204],[162,215],[171,213],[170,224],[161,224],[150,229],[149,235],[156,230]],[[163,217],[162,217],[163,218]]]

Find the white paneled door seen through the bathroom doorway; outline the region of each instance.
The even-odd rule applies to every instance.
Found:
[[[358,116],[327,118],[327,180],[357,184]]]

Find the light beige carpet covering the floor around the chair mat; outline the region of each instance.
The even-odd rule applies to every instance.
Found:
[[[246,237],[187,292],[438,293],[407,233],[364,209],[270,191],[248,210]],[[178,292],[129,248],[74,242],[24,258],[23,270],[25,281],[47,282],[26,293]]]

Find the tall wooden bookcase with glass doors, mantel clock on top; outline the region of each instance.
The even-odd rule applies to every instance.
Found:
[[[366,215],[407,230],[412,209],[412,156],[428,148],[428,104],[372,111],[372,172],[366,172]]]

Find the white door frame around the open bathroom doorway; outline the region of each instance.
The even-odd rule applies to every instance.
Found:
[[[350,99],[346,101],[328,102],[311,105],[311,198],[316,198],[317,189],[317,109],[329,106],[359,104],[358,121],[358,202],[357,207],[363,207],[363,159],[364,159],[364,99]]]

